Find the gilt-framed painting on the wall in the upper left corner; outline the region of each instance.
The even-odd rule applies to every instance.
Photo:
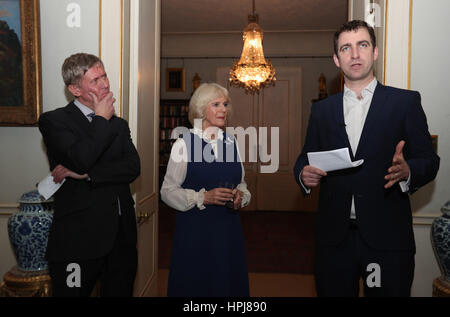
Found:
[[[0,0],[0,126],[36,126],[42,113],[39,11],[39,0]]]

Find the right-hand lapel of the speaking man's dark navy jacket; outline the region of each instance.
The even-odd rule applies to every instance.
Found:
[[[366,149],[370,149],[371,145],[371,136],[374,133],[374,127],[382,127],[383,125],[383,113],[384,113],[384,105],[387,94],[385,87],[378,83],[375,88],[375,92],[373,94],[372,102],[370,104],[369,112],[367,113],[366,121],[364,123],[363,131],[361,133],[361,138],[359,139],[358,148],[356,150],[355,158],[359,159],[363,156],[364,151]]]

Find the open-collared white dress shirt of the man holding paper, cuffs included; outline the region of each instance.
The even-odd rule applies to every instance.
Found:
[[[350,90],[346,85],[344,85],[344,122],[345,130],[347,132],[348,140],[350,142],[351,150],[353,155],[356,154],[358,149],[359,139],[361,138],[362,130],[364,128],[364,123],[366,122],[367,113],[370,109],[370,104],[372,103],[373,94],[375,93],[375,88],[377,87],[377,79],[374,78],[362,91],[361,95],[356,96],[356,94]],[[386,171],[386,174],[388,172]],[[303,188],[309,194],[311,189],[306,188],[303,184],[300,173],[300,183]],[[400,188],[403,192],[409,190],[409,184],[411,180],[411,173],[407,181],[399,182]],[[352,207],[350,210],[350,218],[356,219],[355,213],[355,200],[352,197]]]

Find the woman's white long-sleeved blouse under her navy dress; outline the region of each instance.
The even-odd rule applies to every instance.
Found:
[[[208,136],[204,135],[202,130],[199,129],[191,129],[192,133],[200,136],[206,143],[211,144],[211,147],[214,151],[214,156],[218,157],[217,152],[217,140],[223,140],[223,131],[218,131],[217,138],[211,140]],[[236,139],[233,138],[233,141],[236,142]],[[238,146],[236,144],[236,148]],[[239,149],[237,150],[239,154]],[[180,157],[180,155],[184,159],[174,159],[174,157]],[[240,157],[240,154],[239,154]],[[241,159],[242,161],[242,159]],[[242,197],[241,207],[245,207],[250,203],[251,194],[247,189],[247,184],[245,183],[245,170],[244,165],[241,162],[242,167],[242,180],[241,183],[237,186],[237,189],[240,190],[244,195]],[[186,179],[186,171],[187,171],[187,148],[186,143],[182,138],[179,138],[175,141],[172,146],[172,150],[170,152],[169,163],[167,165],[166,175],[164,176],[164,182],[161,187],[161,199],[170,207],[179,210],[179,211],[187,211],[192,209],[194,206],[197,206],[200,210],[205,209],[206,207],[203,205],[204,194],[206,192],[205,188],[202,188],[200,191],[196,192],[193,189],[182,188],[181,184],[183,184]]]

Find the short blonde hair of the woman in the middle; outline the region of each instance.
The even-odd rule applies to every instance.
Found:
[[[189,122],[194,126],[195,119],[204,119],[208,104],[224,97],[228,101],[227,120],[231,116],[231,98],[228,90],[216,83],[203,83],[194,92],[189,102]]]

